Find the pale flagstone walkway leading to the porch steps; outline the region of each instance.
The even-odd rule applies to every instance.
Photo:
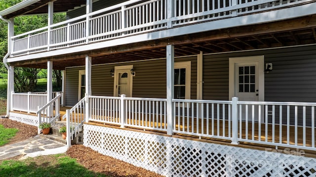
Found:
[[[23,155],[21,159],[64,153],[68,146],[40,136],[29,138],[25,141],[0,147],[0,160]]]

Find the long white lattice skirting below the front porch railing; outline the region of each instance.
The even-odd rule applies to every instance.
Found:
[[[316,159],[84,125],[83,145],[167,177],[309,177]]]

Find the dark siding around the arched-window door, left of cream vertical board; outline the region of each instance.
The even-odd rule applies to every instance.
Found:
[[[177,61],[191,60],[191,99],[197,98],[197,57],[177,58]],[[135,61],[119,64],[92,66],[91,92],[96,96],[113,96],[114,78],[110,71],[115,66],[133,65],[136,76],[133,77],[133,97],[166,98],[166,60]],[[79,68],[66,69],[66,105],[78,102]]]

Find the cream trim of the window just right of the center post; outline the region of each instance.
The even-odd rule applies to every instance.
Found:
[[[186,69],[186,95],[185,99],[191,99],[191,61],[174,62],[174,69]]]

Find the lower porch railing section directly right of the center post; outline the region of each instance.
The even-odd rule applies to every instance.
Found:
[[[172,102],[174,133],[231,140],[232,101],[173,99]]]

